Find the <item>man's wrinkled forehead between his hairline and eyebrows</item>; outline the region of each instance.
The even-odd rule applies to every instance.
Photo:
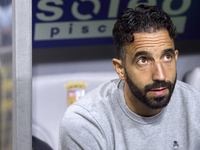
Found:
[[[158,30],[152,33],[134,33],[134,41],[126,45],[128,53],[137,51],[150,51],[153,53],[165,49],[174,49],[174,42],[167,30]]]

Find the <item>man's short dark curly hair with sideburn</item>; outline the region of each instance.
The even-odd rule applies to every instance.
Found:
[[[126,8],[113,28],[113,41],[118,59],[125,61],[126,50],[123,46],[134,41],[133,33],[151,33],[161,29],[167,29],[169,36],[174,40],[176,27],[170,17],[156,6],[139,5],[135,9]]]

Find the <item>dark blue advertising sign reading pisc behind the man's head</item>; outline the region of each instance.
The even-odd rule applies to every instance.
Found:
[[[199,39],[200,1],[33,0],[33,48],[112,44],[112,28],[127,7],[157,5],[169,14],[178,38]]]

